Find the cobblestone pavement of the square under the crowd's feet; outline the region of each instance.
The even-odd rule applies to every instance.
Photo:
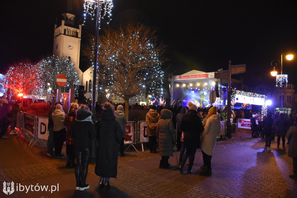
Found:
[[[169,158],[169,170],[159,169],[161,157],[150,153],[146,145],[141,152],[138,145],[139,153],[130,147],[125,157],[119,157],[118,177],[111,178],[110,190],[98,189],[99,177],[92,163],[87,176],[90,188],[77,191],[74,169],[64,167],[66,158],[48,157],[43,144],[31,148],[29,138],[10,135],[8,140],[0,140],[1,185],[13,181],[18,187],[33,185],[34,190],[37,184],[48,185],[49,189],[59,184],[59,191],[29,189],[26,193],[26,189],[18,189],[6,195],[1,189],[0,197],[297,197],[297,180],[288,177],[293,173],[288,145],[277,148],[273,140],[268,148],[264,140],[250,136],[236,132],[230,140],[217,141],[210,177],[199,175],[203,164],[200,150],[196,152],[193,174],[188,175],[178,171],[175,156]],[[65,146],[62,153],[66,154]]]

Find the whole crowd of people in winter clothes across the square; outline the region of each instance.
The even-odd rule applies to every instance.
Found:
[[[1,138],[7,131],[7,123],[15,119],[19,111],[19,105],[14,104],[9,109],[7,100],[1,99]],[[62,158],[63,143],[66,142],[66,167],[75,168],[76,190],[85,190],[90,186],[86,183],[91,145],[97,140],[97,159],[95,173],[99,176],[99,188],[110,189],[110,178],[117,177],[118,156],[124,157],[125,125],[127,124],[124,113],[124,104],[114,104],[112,101],[97,102],[96,112],[100,113],[100,119],[93,123],[91,111],[87,105],[71,103],[65,113],[62,104],[53,105],[48,115],[48,145],[47,154],[56,158]],[[199,108],[189,102],[187,106],[156,106],[156,105],[129,105],[129,109],[146,112],[147,135],[149,136],[150,153],[158,153],[161,156],[159,168],[168,169],[168,159],[173,156],[174,147],[179,153],[179,171],[183,173],[187,159],[187,174],[191,174],[195,153],[197,149],[202,151],[203,164],[201,163],[199,175],[210,176],[212,174],[211,159],[220,133],[220,121],[226,120],[225,110],[216,106]],[[9,119],[11,118],[11,119]],[[293,120],[292,120],[293,119]],[[273,125],[277,135],[277,146],[282,139],[285,146],[285,136],[289,143],[288,156],[293,157],[294,174],[297,173],[297,122],[296,115],[291,114],[285,118],[285,114],[272,115],[268,112],[263,120],[257,113],[251,114],[252,136],[262,136],[266,145],[270,146],[273,137]],[[13,126],[13,125],[12,125]],[[158,141],[158,143],[157,143]],[[120,155],[119,155],[120,145]],[[54,149],[54,151],[53,151]],[[76,160],[76,163],[75,163]]]

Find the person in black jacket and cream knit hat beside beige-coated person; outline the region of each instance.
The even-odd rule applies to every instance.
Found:
[[[184,165],[189,158],[187,174],[192,173],[195,153],[197,148],[200,148],[200,133],[204,130],[202,122],[198,116],[197,106],[192,102],[188,102],[189,110],[181,119],[180,129],[184,132],[184,154],[179,171],[183,173]]]

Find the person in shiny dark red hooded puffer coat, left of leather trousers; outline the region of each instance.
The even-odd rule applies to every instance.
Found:
[[[70,103],[70,107],[68,112],[65,114],[64,118],[64,125],[66,126],[66,154],[67,154],[67,161],[66,167],[75,167],[75,148],[74,148],[74,138],[70,137],[70,127],[72,123],[75,121],[76,118],[76,110],[78,109],[77,103]]]

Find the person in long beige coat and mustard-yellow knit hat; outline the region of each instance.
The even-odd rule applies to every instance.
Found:
[[[221,132],[221,118],[217,113],[217,107],[213,106],[208,110],[207,121],[204,131],[201,133],[201,151],[204,165],[201,167],[200,175],[211,175],[211,157],[216,145],[217,136]]]

